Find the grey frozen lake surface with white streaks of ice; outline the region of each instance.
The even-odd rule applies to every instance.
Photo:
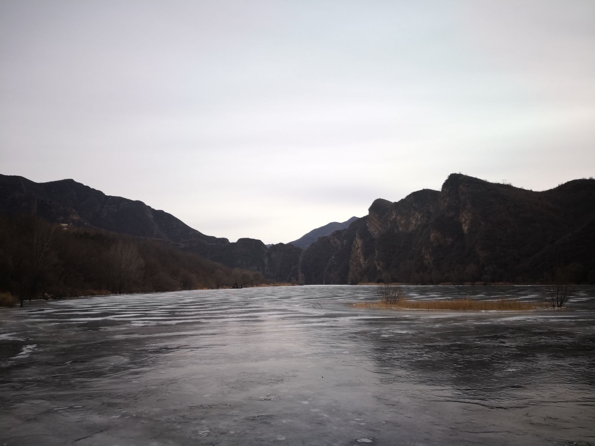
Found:
[[[405,288],[419,299],[543,293]],[[1,310],[0,445],[595,444],[595,288],[567,311],[346,305],[361,299],[373,288]]]

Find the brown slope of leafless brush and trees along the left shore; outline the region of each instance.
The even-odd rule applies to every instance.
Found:
[[[21,301],[51,296],[270,283],[172,244],[94,228],[59,230],[31,215],[0,216],[0,290]]]

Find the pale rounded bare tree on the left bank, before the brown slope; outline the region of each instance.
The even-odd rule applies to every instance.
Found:
[[[129,291],[144,265],[136,246],[130,242],[118,240],[109,249],[109,259],[112,293],[122,294]]]

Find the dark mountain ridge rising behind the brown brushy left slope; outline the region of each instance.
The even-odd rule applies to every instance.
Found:
[[[250,238],[229,243],[227,238],[202,234],[143,202],[105,195],[74,180],[35,183],[0,175],[0,213],[33,213],[52,223],[156,238],[231,268],[259,271],[283,282],[297,279],[302,252],[283,243],[267,248],[260,240]]]

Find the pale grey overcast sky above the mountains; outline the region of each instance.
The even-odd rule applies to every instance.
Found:
[[[595,175],[595,1],[0,2],[0,172],[287,242]]]

